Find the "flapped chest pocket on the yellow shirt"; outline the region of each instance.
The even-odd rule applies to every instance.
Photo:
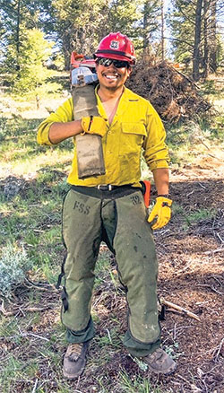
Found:
[[[146,129],[142,123],[122,123],[119,155],[139,155],[146,136]]]

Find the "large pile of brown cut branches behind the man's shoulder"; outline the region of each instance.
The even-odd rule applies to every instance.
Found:
[[[151,101],[159,116],[169,123],[195,118],[211,108],[198,86],[166,61],[139,62],[126,87]]]

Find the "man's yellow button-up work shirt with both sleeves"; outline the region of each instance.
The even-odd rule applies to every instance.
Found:
[[[99,99],[99,115],[107,118],[105,109]],[[38,143],[51,144],[48,134],[55,122],[73,121],[73,99],[70,98],[44,120],[38,129]],[[108,124],[108,122],[107,122]],[[99,184],[139,185],[141,179],[141,151],[150,170],[168,168],[168,147],[165,144],[166,132],[158,113],[148,100],[125,88],[116,115],[108,132],[102,138],[106,174],[88,179],[79,179],[77,156],[74,142],[72,170],[68,183],[77,186],[97,186]]]

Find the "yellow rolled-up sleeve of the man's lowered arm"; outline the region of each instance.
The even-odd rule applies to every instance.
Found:
[[[147,115],[147,137],[143,143],[143,156],[150,170],[168,168],[168,146],[165,143],[166,131],[158,113],[152,106]]]

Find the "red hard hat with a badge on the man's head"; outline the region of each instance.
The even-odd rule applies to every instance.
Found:
[[[130,64],[135,63],[134,45],[130,39],[119,31],[109,33],[99,42],[99,47],[94,57],[109,57],[116,60],[125,60]]]

